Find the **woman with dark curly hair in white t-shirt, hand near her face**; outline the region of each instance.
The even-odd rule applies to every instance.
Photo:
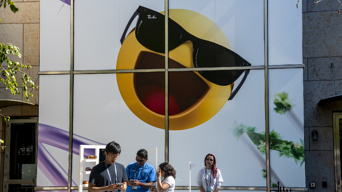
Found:
[[[161,177],[164,179],[161,181]],[[152,192],[173,192],[174,186],[176,184],[176,170],[168,162],[161,163],[159,169],[157,170],[157,187],[151,188]]]

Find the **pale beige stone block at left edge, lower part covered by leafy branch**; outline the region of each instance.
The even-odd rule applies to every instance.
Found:
[[[2,11],[0,11],[0,15]],[[12,43],[19,47],[19,52],[23,55],[23,24],[0,24],[0,41]],[[14,54],[9,54],[8,57],[11,60],[23,63],[23,57],[19,58]],[[7,63],[4,62],[3,65],[7,66]]]

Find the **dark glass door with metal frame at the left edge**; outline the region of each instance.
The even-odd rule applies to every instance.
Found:
[[[3,192],[34,192],[38,119],[6,122]]]

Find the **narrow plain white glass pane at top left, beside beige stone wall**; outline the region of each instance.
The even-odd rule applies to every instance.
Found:
[[[39,70],[70,71],[70,0],[39,5]]]

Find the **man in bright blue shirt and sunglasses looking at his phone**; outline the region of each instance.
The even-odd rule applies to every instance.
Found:
[[[153,183],[157,181],[156,169],[148,164],[147,151],[140,149],[136,153],[136,162],[133,162],[126,167],[128,177],[126,192],[148,192]]]

